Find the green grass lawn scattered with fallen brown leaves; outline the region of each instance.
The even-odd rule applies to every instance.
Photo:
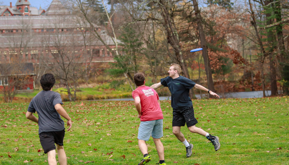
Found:
[[[193,100],[196,126],[217,135],[221,148],[215,152],[205,137],[190,133],[185,126],[181,131],[194,144],[194,154],[189,158],[185,156],[185,146],[172,134],[170,101],[161,101],[161,140],[166,163],[289,164],[288,100],[289,97]],[[64,138],[68,164],[138,164],[142,159],[137,140],[140,120],[133,102],[80,103],[64,103],[73,121],[72,130]],[[0,164],[48,164],[47,154],[38,152],[38,126],[25,118],[27,107],[28,103],[0,104]],[[147,145],[152,158],[149,164],[158,163],[152,138]],[[24,163],[25,160],[33,161]]]

